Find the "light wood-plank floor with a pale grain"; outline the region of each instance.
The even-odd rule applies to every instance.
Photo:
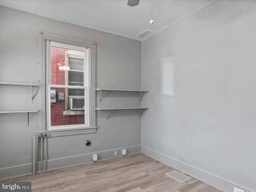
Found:
[[[138,153],[5,181],[30,181],[34,192],[221,192],[191,176],[180,183],[165,175],[173,170]]]

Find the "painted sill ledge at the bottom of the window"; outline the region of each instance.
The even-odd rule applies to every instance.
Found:
[[[90,133],[96,133],[96,127],[46,130],[46,131],[37,132],[38,138],[41,137],[40,134],[47,134],[47,137],[60,137],[60,136],[81,135],[81,134],[90,134]]]

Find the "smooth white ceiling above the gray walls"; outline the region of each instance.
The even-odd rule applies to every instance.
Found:
[[[0,5],[127,38],[144,41],[218,0],[0,0]],[[154,24],[150,24],[151,5]],[[152,34],[141,38],[144,30]]]

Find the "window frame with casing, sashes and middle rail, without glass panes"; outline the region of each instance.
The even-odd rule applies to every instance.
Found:
[[[39,32],[38,38],[38,64],[42,67],[42,72],[39,72],[39,79],[41,77],[42,82],[39,80],[39,85],[41,84],[38,94],[39,94],[39,110],[38,113],[38,134],[48,133],[50,136],[66,136],[66,135],[75,135],[75,134],[87,134],[96,132],[96,112],[95,112],[95,68],[96,68],[96,43],[89,42],[86,40],[80,40],[76,38],[70,38],[65,36],[60,36],[56,34],[42,33]],[[52,88],[78,88],[78,86],[65,86],[65,85],[51,85],[50,83],[50,58],[49,55],[49,46],[50,42],[54,42],[55,45],[65,45],[65,48],[76,49],[87,48],[89,49],[88,62],[88,78],[86,80],[87,86],[79,86],[79,88],[86,89],[88,91],[88,111],[86,125],[68,125],[68,126],[49,126],[50,117],[47,111],[50,109],[50,87]],[[67,45],[69,47],[67,47]],[[58,46],[58,47],[60,47]],[[47,59],[48,58],[48,59]],[[42,101],[42,102],[40,102]],[[47,114],[47,115],[46,115]],[[47,123],[49,122],[49,123]]]

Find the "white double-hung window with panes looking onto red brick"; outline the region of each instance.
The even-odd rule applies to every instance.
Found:
[[[46,130],[95,128],[95,46],[46,41]]]

